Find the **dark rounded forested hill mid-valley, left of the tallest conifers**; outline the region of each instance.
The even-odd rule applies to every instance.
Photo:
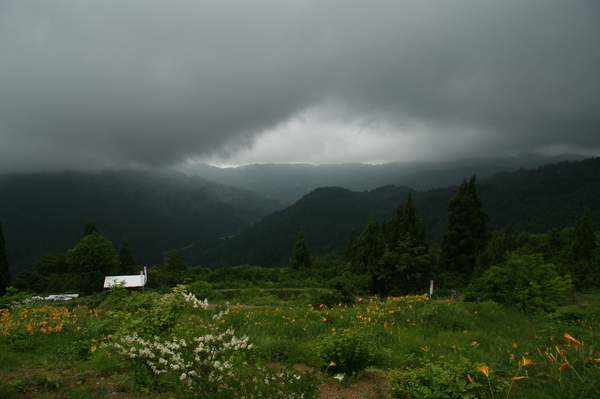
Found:
[[[300,231],[314,253],[339,253],[352,229],[362,230],[371,215],[390,216],[409,190],[385,186],[357,193],[339,187],[318,188],[239,236],[221,240],[204,258],[210,265],[286,265]]]

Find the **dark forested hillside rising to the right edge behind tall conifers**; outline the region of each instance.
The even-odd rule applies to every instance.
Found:
[[[456,186],[460,183],[456,182]],[[456,194],[456,186],[413,193],[429,243],[439,243],[442,239],[447,227],[446,208]],[[379,220],[390,217],[398,202],[404,201],[407,191],[408,188],[396,186],[360,193],[339,188],[317,189],[240,236],[222,242],[219,254],[207,254],[206,262],[286,265],[300,231],[304,232],[313,254],[341,253],[353,228],[360,232],[370,215]],[[489,213],[490,231],[504,229],[509,223],[530,233],[573,227],[585,207],[590,209],[596,226],[600,226],[599,158],[478,179],[478,192]]]

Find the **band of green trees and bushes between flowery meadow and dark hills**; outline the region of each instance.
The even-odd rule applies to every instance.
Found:
[[[391,218],[371,217],[355,230],[342,254],[312,256],[310,237],[299,232],[287,265],[265,269],[249,265],[216,269],[188,266],[177,250],[149,269],[149,288],[168,289],[204,281],[214,287],[326,287],[331,300],[356,295],[397,296],[423,293],[429,281],[443,291],[458,290],[470,300],[518,304],[531,311],[551,310],[569,290],[600,288],[600,254],[589,209],[574,227],[533,234],[505,229],[488,231],[488,213],[478,194],[476,176],[464,180],[447,205],[448,224],[440,243],[427,244],[424,221],[409,191]],[[1,225],[0,225],[0,233]],[[126,238],[118,251],[95,224],[88,222],[79,243],[66,253],[46,254],[32,271],[10,281],[6,246],[0,234],[0,289],[9,284],[36,292],[101,290],[106,275],[137,274]]]

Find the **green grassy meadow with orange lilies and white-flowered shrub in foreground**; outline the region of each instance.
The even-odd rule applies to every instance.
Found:
[[[0,310],[0,398],[316,398],[365,370],[386,376],[377,397],[600,397],[598,295],[532,316],[427,296],[245,292],[215,306],[185,292]]]

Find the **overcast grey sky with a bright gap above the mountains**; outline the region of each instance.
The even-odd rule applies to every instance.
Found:
[[[522,151],[600,155],[600,2],[0,3],[0,172]]]

